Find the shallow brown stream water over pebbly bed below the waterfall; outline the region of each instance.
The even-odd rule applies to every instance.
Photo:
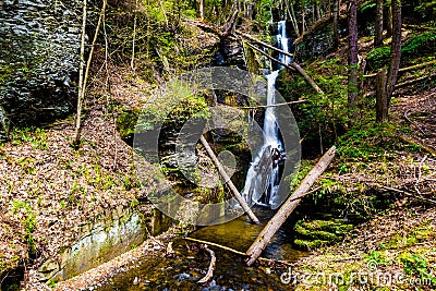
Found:
[[[252,225],[242,216],[223,225],[204,227],[191,233],[191,238],[218,243],[245,252],[268,219],[270,209],[254,207],[261,226]],[[280,229],[263,253],[263,257],[295,262],[306,252],[292,248],[290,234]],[[174,256],[152,255],[143,257],[126,272],[114,275],[99,291],[109,290],[291,290],[291,286],[280,281],[284,266],[268,267],[254,264],[247,267],[238,254],[209,246],[217,262],[211,282],[197,283],[209,266],[210,257],[199,248],[199,244],[177,239],[173,241]]]

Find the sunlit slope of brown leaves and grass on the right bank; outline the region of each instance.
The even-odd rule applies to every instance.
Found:
[[[435,95],[435,87],[398,90],[390,108],[393,135],[380,137],[392,148],[364,161],[364,168],[356,160],[341,158],[324,174],[324,179],[343,183],[344,191],[352,193],[349,199],[370,191],[386,195],[392,204],[376,210],[342,243],[296,262],[291,276],[296,290],[436,288]],[[352,170],[341,173],[341,165]],[[370,201],[371,195],[365,198]]]

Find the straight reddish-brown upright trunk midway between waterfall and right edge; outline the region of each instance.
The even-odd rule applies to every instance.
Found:
[[[348,102],[352,109],[355,108],[358,99],[358,1],[350,0],[349,23],[350,45],[349,45],[349,76],[348,76]],[[353,116],[355,112],[353,113]]]

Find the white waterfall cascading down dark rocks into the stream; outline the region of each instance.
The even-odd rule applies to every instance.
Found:
[[[278,48],[288,52],[289,39],[286,32],[286,21],[278,22],[277,44]],[[290,63],[289,56],[279,54],[282,63]],[[279,70],[282,65],[279,66]],[[267,87],[267,105],[276,104],[276,80],[279,70],[271,72],[266,76]],[[279,136],[279,128],[276,118],[276,108],[267,107],[264,118],[264,143],[257,150],[250,165],[245,179],[243,196],[249,205],[259,204],[277,208],[279,197],[277,197],[280,182],[279,161],[284,158],[283,143]]]

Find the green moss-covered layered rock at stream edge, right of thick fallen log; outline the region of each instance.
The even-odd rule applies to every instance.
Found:
[[[341,219],[300,220],[295,223],[294,245],[301,250],[314,250],[324,245],[340,242],[353,225],[344,223]]]

